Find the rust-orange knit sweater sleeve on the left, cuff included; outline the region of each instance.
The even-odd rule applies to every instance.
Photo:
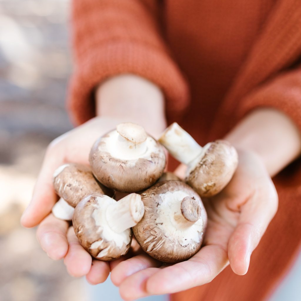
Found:
[[[154,11],[145,0],[73,0],[75,70],[67,98],[73,123],[95,116],[95,87],[122,73],[158,85],[167,112],[187,106],[188,87],[160,36]]]

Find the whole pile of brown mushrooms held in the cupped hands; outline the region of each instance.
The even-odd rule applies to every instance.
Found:
[[[72,220],[79,242],[94,258],[109,261],[125,255],[132,234],[146,253],[162,262],[180,262],[200,250],[207,225],[200,196],[225,187],[237,153],[226,141],[202,148],[177,124],[159,141],[137,124],[122,123],[94,143],[90,166],[67,163],[54,172],[60,199],[52,213]],[[187,184],[163,173],[163,145],[188,164]],[[125,196],[117,201],[115,192]]]

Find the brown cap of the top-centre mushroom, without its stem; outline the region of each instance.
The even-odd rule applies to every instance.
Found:
[[[147,135],[146,152],[137,159],[117,157],[114,141],[117,130],[99,138],[90,152],[90,165],[103,185],[119,192],[137,192],[153,185],[162,175],[166,156],[163,146]],[[114,155],[112,154],[114,153]]]

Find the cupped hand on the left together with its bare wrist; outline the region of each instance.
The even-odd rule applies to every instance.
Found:
[[[24,227],[39,224],[37,238],[51,259],[64,258],[70,275],[86,275],[92,284],[106,280],[110,273],[109,264],[92,260],[79,244],[73,227],[51,214],[58,200],[52,185],[53,172],[68,162],[89,164],[88,157],[93,143],[118,123],[139,123],[153,136],[159,135],[166,126],[162,92],[138,76],[121,75],[107,80],[98,87],[95,102],[96,113],[102,117],[91,119],[56,138],[48,146],[32,201],[21,218]]]

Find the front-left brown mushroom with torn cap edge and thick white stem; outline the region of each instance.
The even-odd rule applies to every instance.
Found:
[[[75,207],[73,228],[79,242],[94,258],[110,261],[128,252],[130,228],[143,214],[139,194],[129,194],[118,202],[104,194],[91,194]]]

